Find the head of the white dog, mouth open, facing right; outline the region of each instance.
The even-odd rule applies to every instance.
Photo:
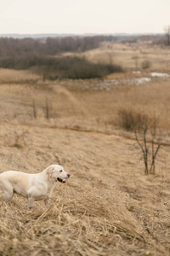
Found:
[[[65,172],[64,168],[59,165],[52,165],[48,166],[47,174],[48,177],[54,178],[56,181],[58,180],[59,182],[65,183],[64,179],[70,177],[71,175],[67,172]]]

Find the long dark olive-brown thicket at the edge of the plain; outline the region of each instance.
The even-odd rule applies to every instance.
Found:
[[[122,72],[120,66],[94,64],[84,58],[37,55],[1,58],[0,67],[31,69],[42,74],[44,79],[94,79],[110,73]]]

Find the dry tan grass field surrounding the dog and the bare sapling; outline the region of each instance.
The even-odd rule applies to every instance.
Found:
[[[48,207],[0,198],[0,255],[170,255],[170,79],[105,90],[111,79],[148,73],[50,82],[0,70],[1,172],[56,163],[71,173]],[[134,134],[119,125],[122,108],[159,117],[155,175],[144,175]]]

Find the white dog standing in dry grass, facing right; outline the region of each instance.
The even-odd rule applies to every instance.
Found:
[[[22,195],[28,198],[28,208],[33,207],[34,201],[44,200],[48,204],[54,185],[57,181],[65,183],[65,178],[70,174],[65,172],[62,166],[48,166],[39,173],[26,173],[7,171],[0,174],[0,189],[3,192],[3,200],[10,201],[14,195]]]

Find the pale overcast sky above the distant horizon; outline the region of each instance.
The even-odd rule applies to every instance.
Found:
[[[0,0],[3,33],[148,33],[170,25],[170,0]]]

